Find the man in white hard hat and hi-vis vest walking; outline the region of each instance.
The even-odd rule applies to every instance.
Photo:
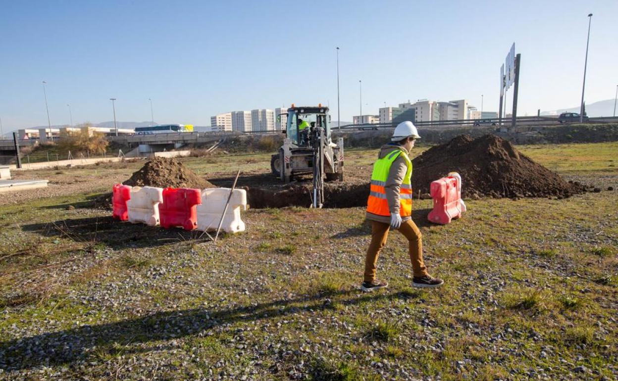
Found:
[[[414,275],[412,285],[433,288],[444,283],[427,272],[423,263],[421,232],[412,221],[412,161],[408,154],[416,139],[420,136],[415,125],[412,122],[400,123],[392,134],[391,143],[382,146],[373,165],[366,212],[366,218],[371,220],[371,243],[365,258],[363,291],[388,286],[388,283],[376,279],[376,264],[391,228],[398,229],[408,239]]]

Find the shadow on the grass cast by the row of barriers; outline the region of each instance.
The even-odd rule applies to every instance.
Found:
[[[149,248],[179,241],[196,240],[202,232],[187,232],[181,228],[166,230],[145,224],[131,224],[106,217],[65,219],[45,224],[22,225],[23,232],[38,233],[43,237],[66,237],[76,242],[104,243],[113,249]],[[202,239],[208,238],[206,235]]]

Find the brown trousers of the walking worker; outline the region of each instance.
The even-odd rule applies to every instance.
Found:
[[[367,249],[365,258],[365,282],[373,282],[376,279],[376,264],[378,256],[384,245],[391,225],[384,222],[371,221],[371,243]],[[421,231],[412,219],[404,221],[399,227],[399,232],[408,239],[408,252],[412,261],[412,270],[415,277],[427,275],[427,269],[423,263],[423,241]]]

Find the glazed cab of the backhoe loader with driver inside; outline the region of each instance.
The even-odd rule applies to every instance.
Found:
[[[292,107],[287,109],[286,135],[293,144],[299,147],[311,147],[311,136],[320,134],[323,130],[326,137],[331,136],[328,107],[321,104],[318,107]]]

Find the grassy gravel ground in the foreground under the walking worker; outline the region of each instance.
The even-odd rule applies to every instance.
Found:
[[[618,191],[470,200],[444,226],[415,201],[444,287],[410,287],[392,233],[389,288],[362,293],[363,208],[249,210],[213,243],[65,207],[132,172],[116,171],[0,208],[2,255],[36,254],[0,259],[0,380],[618,378]]]

